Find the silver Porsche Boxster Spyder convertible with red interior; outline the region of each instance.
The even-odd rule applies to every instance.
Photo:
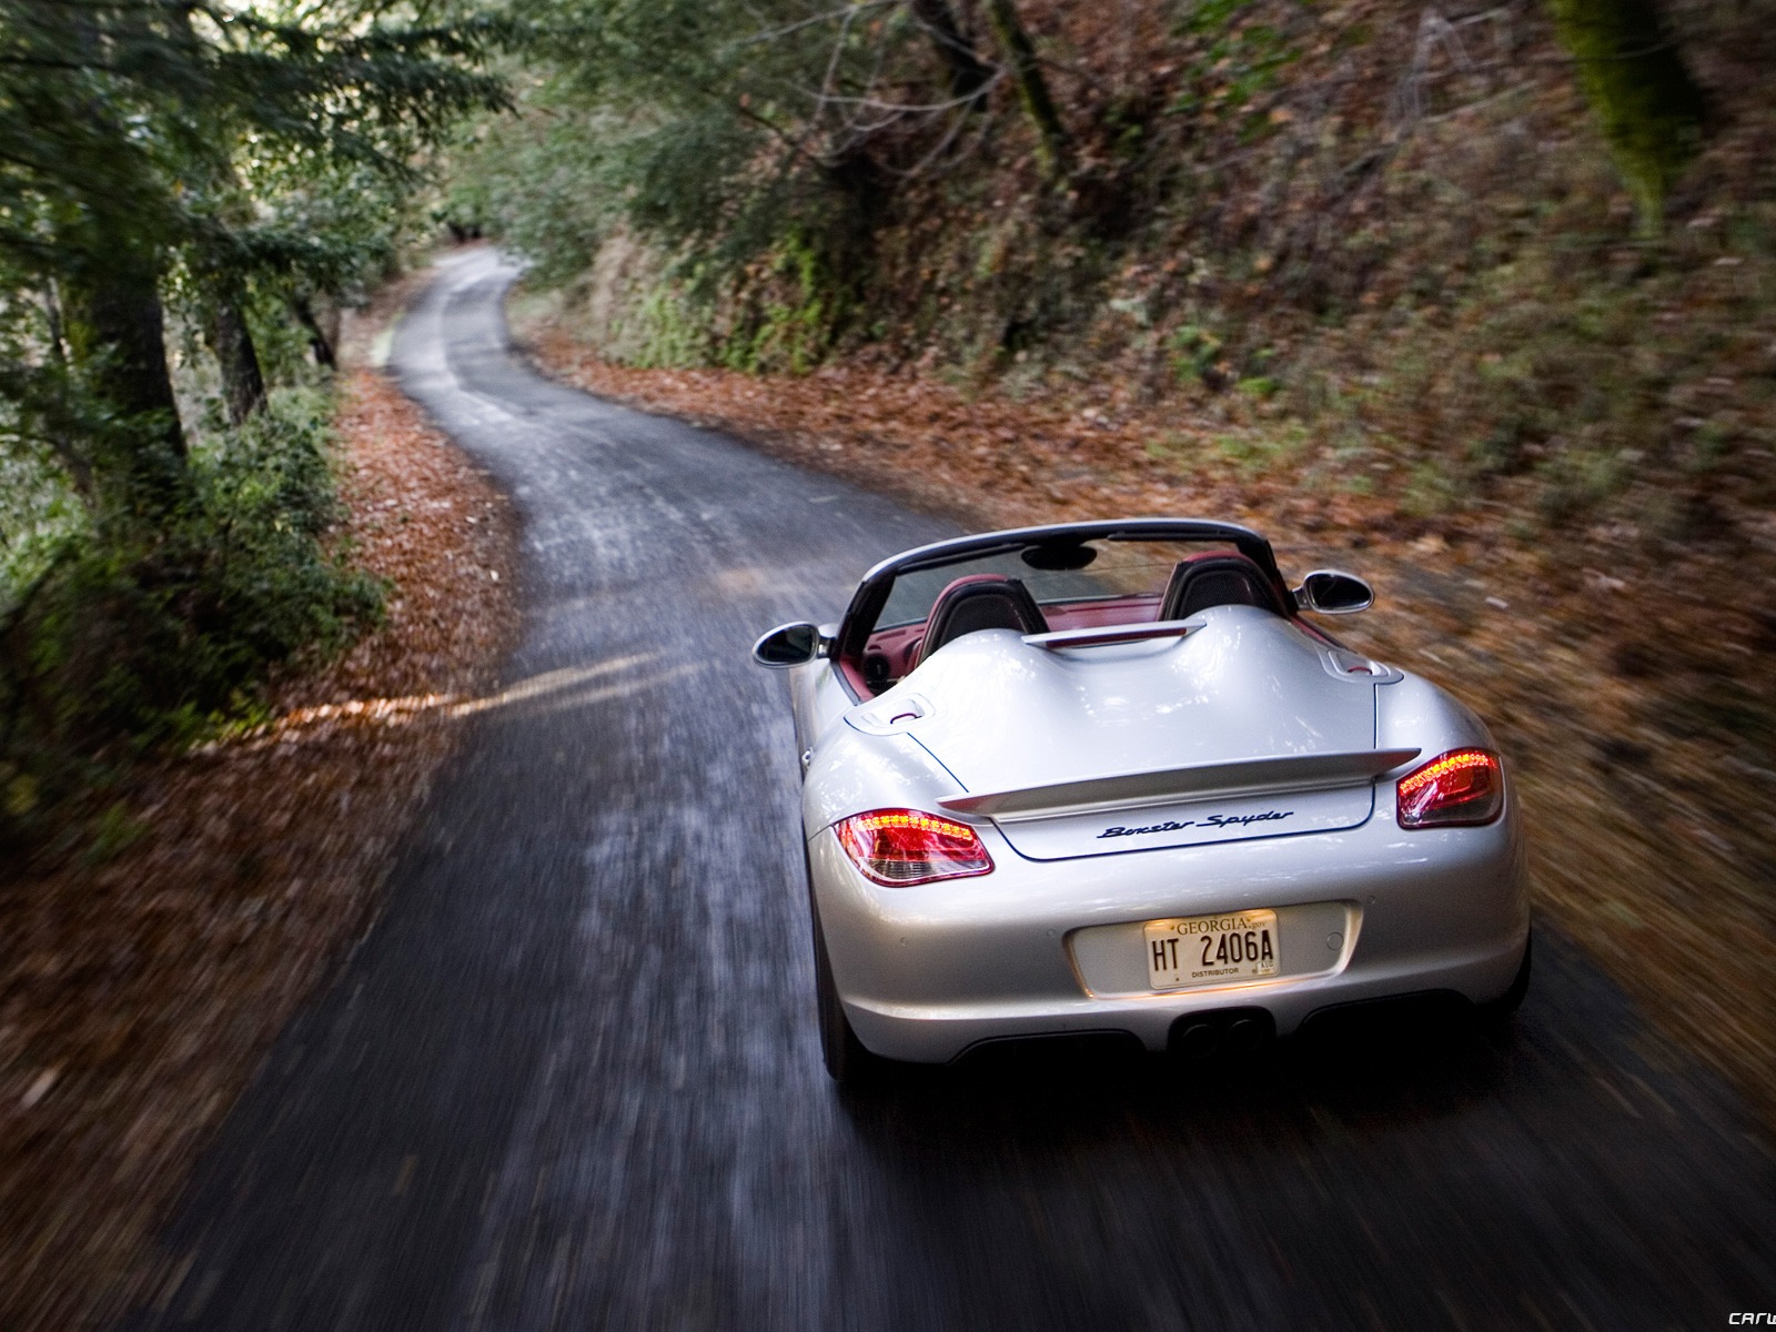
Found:
[[[821,1044],[840,1082],[986,1041],[1249,1048],[1316,1012],[1529,984],[1524,835],[1485,725],[1302,611],[1225,522],[964,536],[883,561],[787,670]]]

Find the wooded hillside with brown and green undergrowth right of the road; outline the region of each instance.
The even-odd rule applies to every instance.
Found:
[[[1174,401],[1408,524],[1776,540],[1771,0],[510,4],[449,210],[613,362]]]

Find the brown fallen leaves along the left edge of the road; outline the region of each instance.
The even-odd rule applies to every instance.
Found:
[[[345,378],[346,538],[389,618],[275,721],[147,773],[140,836],[0,892],[0,1327],[144,1282],[155,1225],[272,1037],[359,938],[515,632],[508,501],[384,377]]]

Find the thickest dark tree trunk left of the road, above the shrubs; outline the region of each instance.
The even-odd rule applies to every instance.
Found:
[[[92,460],[98,485],[126,511],[149,517],[185,497],[185,432],[167,375],[156,274],[131,259],[87,259],[69,274],[62,321],[75,369],[110,417]]]

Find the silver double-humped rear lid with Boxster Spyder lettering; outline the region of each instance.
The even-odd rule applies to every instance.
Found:
[[[893,714],[1034,860],[1355,828],[1415,751],[1375,749],[1375,682],[1266,611],[1215,607],[1183,638],[1082,648],[970,634],[874,712]],[[915,716],[916,712],[916,716]]]

